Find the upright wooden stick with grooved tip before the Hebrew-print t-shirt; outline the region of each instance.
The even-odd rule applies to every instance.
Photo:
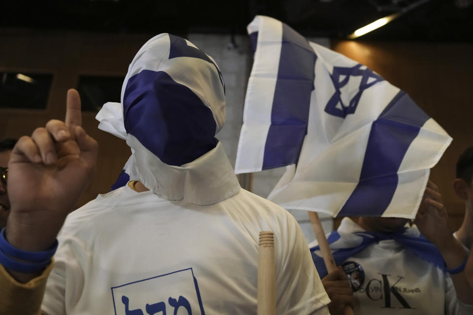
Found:
[[[274,233],[260,232],[258,248],[258,315],[276,314]]]

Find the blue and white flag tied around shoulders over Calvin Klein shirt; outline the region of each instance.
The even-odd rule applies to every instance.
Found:
[[[365,231],[341,234],[337,231],[333,231],[330,233],[327,241],[329,243],[329,247],[332,250],[337,266],[341,265],[341,263],[349,257],[352,257],[358,252],[363,251],[365,248],[374,243],[384,240],[395,240],[399,244],[403,245],[408,251],[413,252],[415,255],[427,261],[428,263],[440,268],[442,271],[445,271],[445,262],[437,247],[421,234],[414,236],[412,233],[408,233],[411,230],[412,228],[404,228],[399,232],[394,233],[377,233]],[[352,235],[361,237],[358,244],[355,246],[343,246],[342,244],[346,243],[347,241],[353,243]],[[310,249],[310,253],[312,254],[312,259],[320,278],[323,278],[328,272],[327,268],[325,268],[324,259],[316,253],[316,251],[319,250],[320,247],[315,246]]]

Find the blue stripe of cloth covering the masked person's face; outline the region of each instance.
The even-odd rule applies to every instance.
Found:
[[[164,71],[142,70],[123,96],[125,129],[161,161],[180,166],[215,148],[211,110]]]

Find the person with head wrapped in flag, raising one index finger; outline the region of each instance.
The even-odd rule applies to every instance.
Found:
[[[121,103],[97,118],[131,147],[131,181],[70,214],[98,147],[81,127],[77,92],[68,92],[65,122],[13,149],[0,314],[256,314],[263,230],[274,232],[277,313],[328,314],[297,222],[240,188],[214,137],[225,85],[211,57],[171,34],[151,38]]]

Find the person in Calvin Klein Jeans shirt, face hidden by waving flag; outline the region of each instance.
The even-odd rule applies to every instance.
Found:
[[[343,314],[344,305],[355,314],[472,314],[468,253],[447,220],[429,182],[414,226],[403,218],[344,218],[328,237],[337,271],[327,274],[317,243],[309,244],[331,314]]]

